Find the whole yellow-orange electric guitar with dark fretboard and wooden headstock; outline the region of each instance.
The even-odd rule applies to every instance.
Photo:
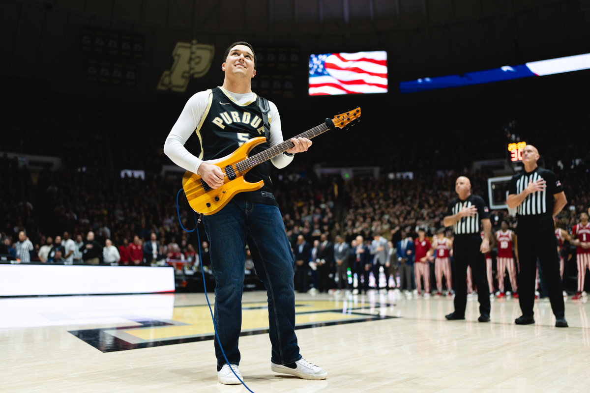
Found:
[[[299,134],[295,138],[317,137],[319,134],[325,133],[327,130],[333,128],[345,128],[350,123],[360,117],[360,108],[352,111],[336,115],[332,119],[327,118],[323,124],[307,130],[303,134]],[[242,146],[238,147],[233,153],[217,160],[207,161],[209,164],[217,165],[224,173],[224,184],[212,189],[207,183],[196,173],[186,171],[182,177],[182,188],[186,194],[186,199],[191,205],[192,209],[204,216],[209,216],[219,212],[237,193],[244,191],[258,190],[264,186],[264,181],[260,180],[256,183],[245,181],[244,174],[246,174],[254,166],[270,160],[278,154],[293,147],[291,140],[283,141],[276,146],[268,148],[261,153],[254,154],[248,157],[250,151],[261,143],[266,141],[265,137],[256,137],[246,141]]]

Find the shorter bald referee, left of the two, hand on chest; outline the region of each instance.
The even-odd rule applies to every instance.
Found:
[[[490,213],[481,197],[471,194],[471,181],[460,176],[455,181],[458,198],[448,204],[442,223],[453,226],[453,269],[455,272],[455,311],[447,319],[465,319],[467,306],[467,266],[471,266],[480,303],[480,322],[490,321],[490,295],[487,293],[486,253],[490,251]],[[480,224],[481,222],[481,224]],[[484,237],[481,239],[481,227]]]

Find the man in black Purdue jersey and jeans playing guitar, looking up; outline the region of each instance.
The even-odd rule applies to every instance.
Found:
[[[256,75],[253,47],[247,42],[235,42],[225,51],[224,59],[221,68],[225,78],[221,87],[201,91],[188,100],[164,146],[172,161],[201,176],[211,189],[223,186],[225,174],[208,161],[227,156],[251,138],[266,136],[263,113],[250,85]],[[277,107],[269,104],[270,136],[251,153],[260,153],[283,142]],[[184,147],[194,132],[201,145],[199,157]],[[271,370],[304,379],[327,376],[326,371],[299,353],[294,330],[293,256],[269,177],[270,162],[283,168],[293,160],[293,154],[302,153],[312,145],[308,138],[293,138],[291,142],[292,148],[245,174],[246,181],[263,180],[263,187],[235,194],[217,213],[203,217],[216,283],[214,319],[219,341],[230,362],[226,364],[216,339],[218,381],[222,384],[240,383],[232,369],[241,378],[238,338],[246,242],[258,276],[267,289]]]

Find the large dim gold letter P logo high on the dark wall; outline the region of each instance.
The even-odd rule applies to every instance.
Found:
[[[172,51],[174,62],[170,70],[162,73],[158,90],[186,91],[191,78],[201,78],[209,71],[215,54],[215,45],[178,42]]]

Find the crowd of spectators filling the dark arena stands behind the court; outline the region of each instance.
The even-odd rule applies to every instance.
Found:
[[[178,105],[159,103],[155,117],[150,116],[155,112],[153,104],[113,105],[94,100],[93,105],[86,105],[71,97],[39,100],[43,132],[26,132],[38,124],[27,116],[25,98],[16,97],[0,109],[2,149],[60,156],[64,169],[31,171],[17,158],[8,159],[5,154],[0,158],[5,190],[0,195],[0,234],[7,251],[15,252],[19,233],[25,231],[32,245],[30,259],[45,263],[55,261],[56,256],[57,260],[84,262],[78,252],[87,242],[100,247],[100,252],[92,252],[95,256],[87,259],[120,265],[194,261],[198,247],[207,252],[207,246],[198,245],[196,233],[178,225],[180,180],[159,174],[163,164],[171,164],[162,146],[178,116]],[[585,161],[590,115],[584,106],[564,100],[545,106],[523,104],[518,110],[504,108],[495,113],[474,103],[463,104],[461,111],[450,110],[454,104],[441,104],[428,116],[419,107],[408,107],[388,119],[388,130],[396,131],[374,131],[379,134],[378,143],[376,138],[361,137],[348,146],[343,134],[326,133],[291,166],[276,171],[277,202],[294,251],[300,236],[312,247],[314,243],[333,245],[340,236],[352,248],[358,236],[371,243],[375,233],[394,246],[402,233],[415,238],[419,228],[429,237],[434,235],[448,200],[455,195],[455,177],[465,174],[474,159],[497,158],[514,133],[536,144],[543,165],[558,174],[569,201],[558,216],[558,225],[571,230],[590,203],[590,162]],[[512,118],[518,121],[510,121]],[[287,128],[283,127],[285,136],[294,133]],[[155,137],[149,138],[146,130],[161,131],[150,131]],[[473,130],[478,130],[477,137]],[[355,128],[346,132],[351,136],[353,131]],[[471,137],[462,137],[465,135]],[[192,138],[189,143],[198,141]],[[355,176],[346,181],[340,176],[317,177],[310,168],[320,161],[346,166],[377,164],[381,176]],[[145,179],[121,177],[121,169],[143,169]],[[413,177],[391,179],[389,171],[411,171]],[[468,176],[474,193],[485,197],[487,179],[493,174],[483,170]],[[182,198],[180,218],[183,226],[194,226],[194,216]],[[491,218],[494,227],[503,219],[512,227],[517,225],[506,211],[494,210]],[[202,227],[199,231],[205,241]],[[93,240],[88,239],[89,233],[94,234]],[[328,280],[335,275],[334,267]],[[328,286],[335,288],[337,283]]]

